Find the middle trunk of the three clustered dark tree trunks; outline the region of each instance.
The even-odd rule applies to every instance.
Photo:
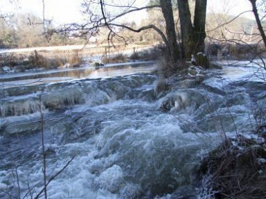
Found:
[[[193,48],[193,26],[188,0],[177,0],[181,26],[181,39],[184,58],[190,58]]]

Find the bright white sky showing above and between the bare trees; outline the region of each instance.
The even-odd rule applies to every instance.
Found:
[[[15,0],[15,3],[10,3],[10,0],[0,0],[0,9],[1,12],[29,12],[42,17],[42,1],[43,0]],[[115,1],[118,2],[123,0]],[[82,10],[80,6],[82,0],[44,0],[44,2],[45,18],[53,19],[53,22],[57,25],[78,22],[84,19],[80,12],[80,10]],[[137,6],[143,6],[146,2],[147,0],[136,0]],[[247,0],[208,0],[207,12],[222,12],[228,13],[229,15],[238,15],[240,12],[251,10],[249,4]],[[251,12],[242,16],[253,19]],[[141,19],[145,17],[145,11],[142,11],[130,15],[127,19],[134,20],[136,24],[140,24]]]

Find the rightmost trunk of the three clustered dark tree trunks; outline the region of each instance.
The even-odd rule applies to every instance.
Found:
[[[196,42],[195,53],[204,53],[205,49],[205,24],[206,24],[207,0],[196,0],[194,17],[194,40]]]

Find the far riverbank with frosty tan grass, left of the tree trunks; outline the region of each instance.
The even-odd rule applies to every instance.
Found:
[[[105,51],[106,53],[106,51]],[[0,54],[0,73],[17,73],[24,71],[40,71],[62,68],[76,68],[91,65],[98,69],[105,64],[121,62],[138,62],[157,60],[161,56],[159,47],[134,47],[118,50],[116,53],[95,54],[87,51],[31,51],[30,53]]]

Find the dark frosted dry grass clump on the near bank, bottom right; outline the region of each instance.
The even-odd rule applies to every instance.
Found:
[[[238,136],[204,160],[205,198],[265,198],[265,144]]]

